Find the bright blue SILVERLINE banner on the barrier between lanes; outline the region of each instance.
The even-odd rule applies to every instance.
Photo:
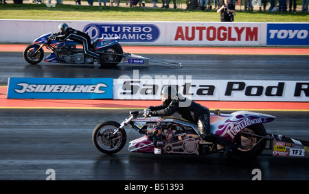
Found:
[[[17,78],[8,81],[9,99],[111,99],[113,78]]]

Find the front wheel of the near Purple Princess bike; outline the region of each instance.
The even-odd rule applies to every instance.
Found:
[[[126,131],[120,129],[113,137],[112,134],[120,124],[115,121],[99,123],[92,133],[93,144],[104,154],[115,154],[126,144]]]

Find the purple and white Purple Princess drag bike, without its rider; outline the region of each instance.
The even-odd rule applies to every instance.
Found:
[[[228,154],[231,158],[253,158],[261,154],[266,146],[267,134],[262,123],[274,119],[272,115],[249,111],[231,114],[211,112],[210,132],[233,143]],[[224,153],[225,150],[216,142],[204,141],[198,133],[196,123],[177,117],[146,117],[145,110],[130,112],[122,123],[99,123],[93,130],[93,144],[104,154],[117,153],[126,144],[126,125],[144,135],[130,141],[129,151],[208,155]]]

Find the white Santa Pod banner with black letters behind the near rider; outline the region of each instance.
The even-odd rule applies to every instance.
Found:
[[[309,81],[191,80],[190,76],[115,80],[114,99],[161,99],[172,85],[181,95],[203,101],[309,101]],[[164,78],[164,79],[162,79]],[[174,78],[174,79],[172,79]],[[177,79],[178,78],[178,79]]]

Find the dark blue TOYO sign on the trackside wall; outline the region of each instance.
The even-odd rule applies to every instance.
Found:
[[[309,45],[309,23],[268,23],[266,45]]]

